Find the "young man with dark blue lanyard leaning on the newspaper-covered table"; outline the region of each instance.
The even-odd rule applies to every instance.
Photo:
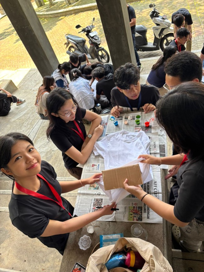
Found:
[[[120,66],[114,73],[117,87],[111,91],[111,114],[120,116],[121,112],[144,110],[148,113],[156,109],[160,98],[158,88],[152,85],[140,85],[140,71],[132,63]]]

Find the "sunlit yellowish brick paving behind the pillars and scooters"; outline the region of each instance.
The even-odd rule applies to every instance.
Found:
[[[80,3],[80,1],[79,1]],[[147,37],[148,41],[153,41],[153,31],[151,27],[154,25],[149,17],[151,9],[148,7],[147,1],[136,1],[132,2],[131,5],[136,10],[137,24],[144,24],[148,28]],[[202,48],[204,41],[204,2],[203,0],[158,0],[156,2],[156,7],[160,13],[166,14],[168,18],[171,18],[171,14],[178,8],[187,8],[192,15],[193,27],[193,43],[192,50],[198,50]],[[81,24],[85,26],[91,23],[92,18],[95,17],[95,30],[99,33],[102,40],[101,45],[107,50],[107,44],[105,40],[105,35],[101,25],[98,10],[92,10],[87,12],[81,12],[78,14],[73,14],[65,17],[55,17],[49,19],[40,19],[43,28],[45,29],[46,35],[50,40],[50,43],[56,53],[59,62],[68,60],[66,54],[64,42],[64,35],[66,33],[71,33],[73,35],[78,35],[75,26]],[[82,35],[86,38],[85,35]],[[24,48],[23,43],[19,39],[12,24],[10,23],[8,17],[4,17],[0,20],[0,60],[2,70],[16,70],[18,68],[34,68],[35,64],[30,58],[28,52]],[[139,52],[140,58],[161,56],[162,51],[153,52]]]

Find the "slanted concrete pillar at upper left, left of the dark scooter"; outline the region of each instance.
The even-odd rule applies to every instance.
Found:
[[[59,61],[30,0],[0,0],[0,3],[41,76],[51,75]]]

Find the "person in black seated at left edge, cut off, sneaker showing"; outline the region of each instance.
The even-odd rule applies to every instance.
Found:
[[[16,106],[25,102],[25,99],[17,98],[11,93],[0,87],[0,116],[8,115],[11,110],[11,103],[16,103]]]

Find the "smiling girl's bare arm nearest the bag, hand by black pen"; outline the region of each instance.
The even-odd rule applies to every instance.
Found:
[[[112,214],[113,211],[111,211],[111,208],[114,207],[115,203],[112,203],[111,205],[104,206],[103,209],[98,209],[97,211],[74,217],[63,222],[50,220],[45,231],[40,236],[47,237],[77,231],[78,229],[86,226],[94,220],[99,219],[101,216]]]

